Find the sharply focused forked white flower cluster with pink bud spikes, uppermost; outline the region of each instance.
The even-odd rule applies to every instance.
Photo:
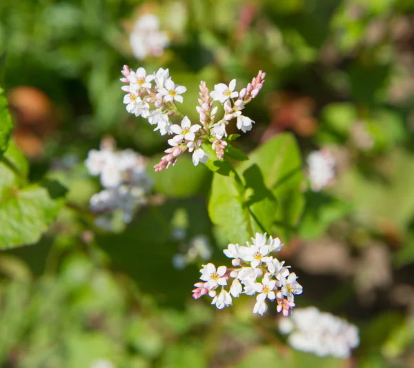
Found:
[[[236,126],[242,132],[246,133],[252,129],[255,122],[250,117],[242,115],[242,110],[262,89],[266,76],[260,70],[257,77],[239,92],[235,90],[235,79],[230,81],[228,86],[223,83],[216,84],[211,92],[206,83],[201,81],[199,106],[196,107],[199,122],[192,124],[188,117],[179,113],[175,104],[183,102],[181,95],[186,92],[186,87],[175,84],[168,69],[160,68],[152,75],[147,75],[144,68],[138,68],[134,72],[128,66],[124,66],[121,72],[124,75],[121,81],[127,84],[122,90],[127,93],[124,104],[128,113],[148,119],[150,124],[156,125],[155,130],[159,130],[161,135],[174,134],[174,137],[168,139],[171,147],[165,151],[166,155],[161,158],[159,164],[154,166],[155,171],[175,165],[178,156],[187,150],[193,153],[193,164],[197,166],[199,162],[206,163],[208,154],[202,148],[203,144],[210,145],[217,158],[223,159],[224,150],[228,145],[226,126],[231,120],[236,119]],[[223,109],[218,122],[215,122],[215,117],[219,106],[213,106],[214,101],[219,101]],[[180,124],[172,124],[172,116],[180,117]]]

